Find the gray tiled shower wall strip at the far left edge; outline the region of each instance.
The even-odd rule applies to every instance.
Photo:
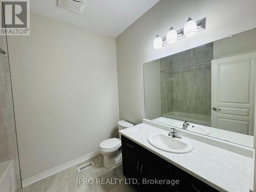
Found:
[[[0,35],[0,48],[7,51],[6,36]],[[8,54],[0,53],[0,162],[11,159],[21,188],[9,60]]]

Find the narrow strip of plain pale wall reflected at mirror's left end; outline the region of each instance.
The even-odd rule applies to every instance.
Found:
[[[143,69],[145,117],[156,119],[162,115],[160,59],[145,63]]]

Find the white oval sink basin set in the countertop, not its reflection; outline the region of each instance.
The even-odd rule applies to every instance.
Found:
[[[159,150],[169,153],[188,153],[193,150],[193,145],[187,139],[173,138],[165,133],[152,133],[147,136],[147,141]]]

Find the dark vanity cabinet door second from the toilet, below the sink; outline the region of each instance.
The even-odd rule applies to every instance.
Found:
[[[142,162],[139,167],[139,172],[142,177],[142,191],[177,191],[177,185],[172,183],[173,181],[170,179],[171,176],[164,176],[150,164]]]

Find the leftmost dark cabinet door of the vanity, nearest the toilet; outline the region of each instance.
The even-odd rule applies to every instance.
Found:
[[[140,190],[140,159],[130,150],[122,146],[123,175],[126,177],[126,183],[133,184]]]

